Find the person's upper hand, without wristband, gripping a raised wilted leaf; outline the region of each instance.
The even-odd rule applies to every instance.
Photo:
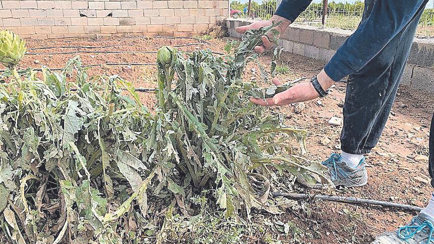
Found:
[[[280,24],[279,26],[276,26],[276,27],[274,28],[274,30],[276,30],[276,31],[278,31],[280,34],[282,34],[282,33],[285,32],[285,30],[288,28],[288,26],[289,26],[289,24],[290,24],[291,22],[290,22],[289,20],[285,19],[284,17],[280,17],[280,16],[278,16],[278,15],[273,15],[273,17],[271,17],[270,20],[261,20],[261,21],[256,21],[256,22],[253,22],[252,24],[250,24],[250,25],[248,25],[248,26],[240,26],[240,27],[237,27],[237,28],[235,28],[235,31],[238,32],[238,33],[240,33],[240,34],[244,34],[244,33],[247,32],[248,30],[251,30],[251,29],[259,29],[259,28],[261,28],[261,27],[270,26],[270,25],[272,25],[273,23],[276,23],[276,22],[279,22],[279,21],[282,21],[282,24]],[[271,35],[272,35],[272,34],[270,33],[270,36],[266,36],[266,35],[263,35],[263,36],[262,36],[262,42],[263,42],[263,45],[255,46],[255,47],[254,47],[254,51],[255,51],[256,53],[261,54],[261,53],[265,52],[266,50],[269,50],[269,49],[271,49],[271,48],[273,47],[273,42],[271,42],[271,41],[268,39],[268,37],[272,37]],[[278,36],[277,36],[277,37],[278,37]]]

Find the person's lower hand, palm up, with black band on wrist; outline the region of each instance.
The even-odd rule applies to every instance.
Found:
[[[333,80],[322,70],[318,75],[318,82],[323,87],[324,90],[333,85]],[[272,80],[275,85],[282,85],[283,83],[277,79]],[[261,106],[283,106],[289,105],[299,102],[305,102],[309,100],[313,100],[318,98],[320,95],[317,90],[315,90],[314,86],[310,82],[309,79],[304,82],[298,83],[288,90],[278,93],[274,95],[272,98],[267,98],[266,100],[258,99],[258,98],[250,98],[250,101],[253,104],[261,105]]]

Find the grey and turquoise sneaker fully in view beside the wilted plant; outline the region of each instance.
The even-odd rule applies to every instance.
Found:
[[[364,157],[360,160],[360,163],[356,168],[342,162],[340,160],[340,155],[337,153],[331,154],[331,156],[322,164],[327,167],[330,179],[333,181],[335,186],[343,185],[347,187],[356,187],[365,185],[368,182]]]

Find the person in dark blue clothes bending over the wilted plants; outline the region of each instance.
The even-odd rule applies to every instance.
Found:
[[[236,28],[238,33],[281,22],[284,33],[311,0],[283,0],[271,20]],[[310,82],[299,83],[266,100],[251,98],[257,105],[289,105],[327,95],[334,81],[348,76],[343,107],[341,152],[323,162],[336,186],[367,183],[364,154],[377,144],[389,117],[410,53],[419,19],[428,0],[365,0],[357,30]],[[255,47],[257,53],[272,47],[267,36]],[[281,84],[273,80],[276,85]],[[434,115],[430,133],[429,173],[434,176]],[[434,187],[434,180],[432,181]],[[395,232],[376,237],[374,244],[434,243],[434,194],[419,215]]]

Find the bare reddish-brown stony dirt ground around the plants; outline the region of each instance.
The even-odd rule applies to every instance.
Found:
[[[79,54],[83,64],[105,63],[155,63],[156,54],[137,53],[137,51],[156,51],[162,45],[184,45],[182,50],[210,48],[224,52],[226,40],[207,40],[208,43],[188,38],[102,38],[83,39],[65,38],[51,40],[29,40],[27,45],[31,53],[21,62],[22,67],[46,65],[50,68],[63,67],[68,59]],[[193,44],[193,45],[190,45]],[[114,46],[110,46],[114,45]],[[61,47],[63,46],[63,47]],[[65,46],[75,46],[67,47]],[[110,46],[110,47],[105,47]],[[39,47],[57,47],[49,49],[32,49]],[[93,47],[93,48],[86,48]],[[136,53],[69,53],[73,51],[134,51]],[[268,65],[270,57],[261,57],[260,61]],[[285,73],[278,75],[282,80],[300,76],[311,77],[325,65],[305,57],[284,54],[281,64],[289,67]],[[250,65],[245,78],[253,75]],[[119,74],[134,82],[135,87],[155,87],[154,66],[122,65],[90,68],[90,74]],[[153,94],[140,94],[145,105],[152,107]],[[309,131],[308,148],[313,159],[325,160],[332,152],[340,148],[339,136],[341,126],[328,124],[332,116],[342,118],[342,105],[345,98],[345,85],[338,84],[331,95],[321,100],[304,103],[304,106],[288,105],[275,107],[285,113],[286,123],[305,128]],[[391,201],[424,207],[432,192],[427,170],[429,125],[433,115],[433,94],[401,87],[397,101],[391,112],[378,145],[366,156],[368,163],[368,184],[357,189],[339,189],[331,194],[353,196],[374,200]],[[319,101],[321,101],[319,103]],[[297,110],[297,112],[295,111]],[[301,111],[300,111],[301,110]],[[416,157],[418,156],[418,157]],[[302,190],[310,193],[318,193]],[[370,243],[372,237],[383,232],[392,231],[410,220],[414,212],[398,209],[385,209],[368,206],[354,206],[332,202],[315,202],[308,210],[292,211],[274,218],[291,221],[305,231],[301,240],[307,243]],[[286,240],[290,241],[290,240]]]

